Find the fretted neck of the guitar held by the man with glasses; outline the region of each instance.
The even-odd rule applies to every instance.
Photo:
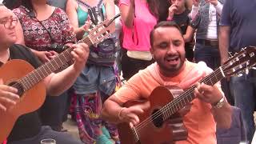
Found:
[[[88,46],[92,45],[89,37],[82,38],[78,43],[84,42]],[[29,74],[26,74],[25,77],[21,79],[22,86],[24,90],[30,90],[38,82],[41,82],[43,78],[46,78],[48,75],[58,70],[64,66],[67,62],[70,62],[72,59],[71,51],[73,48],[69,47],[64,50],[61,54],[58,54],[56,57],[51,59],[49,62],[46,62],[44,65],[39,66],[36,70],[31,71]]]

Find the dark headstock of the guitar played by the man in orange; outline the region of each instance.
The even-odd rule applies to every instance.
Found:
[[[238,75],[246,72],[256,64],[256,47],[248,46],[242,49],[239,53],[234,54],[228,61],[226,61],[222,70],[225,76]]]

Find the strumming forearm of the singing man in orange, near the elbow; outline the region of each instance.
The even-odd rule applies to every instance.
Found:
[[[121,122],[118,114],[122,110],[122,106],[119,106],[118,103],[113,102],[112,100],[108,99],[104,102],[101,117],[108,122],[118,123]]]

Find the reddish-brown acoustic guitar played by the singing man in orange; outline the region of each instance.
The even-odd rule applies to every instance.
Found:
[[[234,54],[227,62],[203,78],[200,83],[213,86],[222,78],[230,77],[238,73],[248,71],[256,63],[256,47],[249,46]],[[174,134],[170,126],[170,118],[177,114],[184,106],[194,100],[194,89],[190,88],[173,98],[170,90],[164,86],[156,87],[149,97],[150,109],[138,115],[140,123],[130,128],[129,124],[122,122],[118,124],[118,134],[122,144],[162,144],[174,143]],[[161,98],[159,98],[161,95]],[[126,107],[133,106],[126,102]]]

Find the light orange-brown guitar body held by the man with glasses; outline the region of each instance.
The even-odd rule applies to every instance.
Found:
[[[0,68],[0,78],[2,78],[5,85],[10,86],[11,83],[17,82],[32,70],[34,70],[34,67],[26,61],[11,60]],[[30,90],[26,90],[20,95],[19,102],[17,102],[15,106],[11,107],[6,112],[0,110],[0,143],[8,137],[18,117],[22,114],[38,110],[45,101],[45,98],[46,86],[42,82],[39,82]]]

